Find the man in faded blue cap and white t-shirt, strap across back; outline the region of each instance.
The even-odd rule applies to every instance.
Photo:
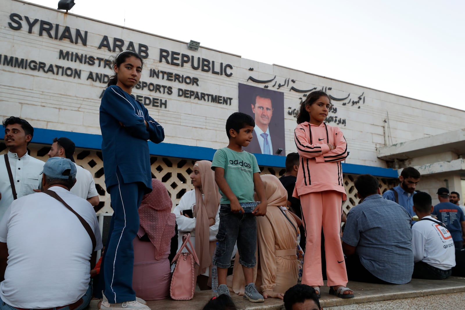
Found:
[[[33,193],[14,200],[5,212],[0,222],[0,310],[81,310],[89,304],[90,270],[102,240],[92,205],[69,191],[75,177],[71,160],[49,158],[42,188],[57,198]]]

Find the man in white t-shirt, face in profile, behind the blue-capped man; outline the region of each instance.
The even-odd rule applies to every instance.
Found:
[[[53,144],[48,152],[48,156],[68,158],[75,163],[73,157],[74,150],[74,142],[70,139],[64,137],[55,138],[53,139]],[[95,181],[93,180],[92,174],[80,165],[76,165],[76,169],[76,184],[71,189],[71,192],[80,198],[86,199],[92,205],[99,204],[99,193],[95,189]]]

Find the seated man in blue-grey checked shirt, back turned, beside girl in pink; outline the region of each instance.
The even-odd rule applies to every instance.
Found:
[[[355,181],[363,202],[347,214],[342,249],[352,281],[405,284],[412,279],[410,214],[380,195],[378,180],[369,174]]]

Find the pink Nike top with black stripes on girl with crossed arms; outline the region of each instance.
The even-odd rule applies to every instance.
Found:
[[[342,200],[346,200],[341,161],[348,155],[347,142],[339,127],[304,122],[295,128],[294,140],[300,155],[300,165],[293,196],[339,191],[343,194]],[[333,146],[332,151],[328,143]]]

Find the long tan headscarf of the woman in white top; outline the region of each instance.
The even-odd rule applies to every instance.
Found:
[[[212,170],[212,162],[200,160],[195,165],[199,167],[200,181],[202,182],[204,194],[202,199],[200,188],[195,187],[195,253],[199,257],[200,267],[196,269],[198,269],[197,275],[200,275],[212,264],[216,242],[210,242],[208,219],[216,217],[221,195],[215,182],[215,172]]]

